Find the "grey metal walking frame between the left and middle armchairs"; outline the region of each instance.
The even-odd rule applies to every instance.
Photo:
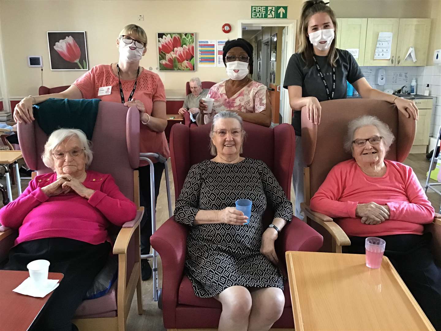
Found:
[[[156,231],[156,202],[155,202],[155,176],[153,162],[150,158],[156,158],[158,162],[164,163],[165,184],[167,187],[168,217],[172,217],[172,202],[170,200],[170,181],[168,176],[167,159],[158,153],[140,153],[139,159],[149,162],[150,165],[150,205],[152,214],[152,235]],[[146,211],[147,212],[147,211]],[[158,268],[157,268],[157,252],[154,248],[152,254],[141,254],[141,260],[152,259],[153,261],[153,301],[158,301]]]

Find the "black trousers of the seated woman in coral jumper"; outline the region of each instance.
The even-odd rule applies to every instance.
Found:
[[[431,233],[396,234],[386,241],[387,256],[436,330],[441,330],[441,268],[430,252]],[[366,237],[351,237],[344,252],[365,254]]]

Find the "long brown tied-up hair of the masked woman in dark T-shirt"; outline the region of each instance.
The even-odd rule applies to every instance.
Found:
[[[305,1],[302,8],[302,15],[300,16],[299,24],[299,53],[302,54],[303,60],[306,62],[308,67],[314,65],[314,60],[312,56],[314,55],[314,47],[311,44],[307,33],[308,33],[308,23],[312,15],[317,13],[326,13],[331,18],[331,21],[335,28],[335,37],[331,42],[328,53],[328,62],[333,67],[336,67],[336,61],[338,59],[337,49],[335,44],[337,42],[337,20],[334,11],[326,6],[325,2],[322,0],[308,0]]]

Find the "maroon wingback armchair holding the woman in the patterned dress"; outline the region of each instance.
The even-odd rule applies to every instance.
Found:
[[[243,156],[261,159],[273,171],[285,194],[290,198],[291,176],[294,163],[294,129],[289,124],[265,128],[245,122],[247,139],[243,144]],[[172,128],[170,150],[172,158],[175,196],[183,187],[185,177],[195,163],[213,158],[209,153],[210,125],[188,128],[176,124]],[[273,211],[265,211],[263,222],[273,220]],[[221,304],[214,298],[194,295],[189,278],[184,274],[188,227],[168,219],[150,238],[162,260],[163,277],[161,302],[164,310],[164,327],[217,328],[221,316]],[[287,224],[276,241],[276,251],[286,274],[286,251],[315,252],[323,243],[323,237],[296,217]],[[285,307],[273,327],[294,328],[292,305],[288,283],[285,284]]]

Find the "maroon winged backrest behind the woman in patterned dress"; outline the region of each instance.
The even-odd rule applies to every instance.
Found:
[[[175,124],[170,136],[175,198],[179,196],[190,167],[213,156],[209,150],[211,124],[189,128]],[[268,165],[290,199],[292,167],[294,165],[295,133],[289,124],[266,128],[243,122],[247,137],[243,143],[243,157],[260,159]],[[269,213],[265,216],[268,221]],[[272,217],[272,216],[271,216]]]

